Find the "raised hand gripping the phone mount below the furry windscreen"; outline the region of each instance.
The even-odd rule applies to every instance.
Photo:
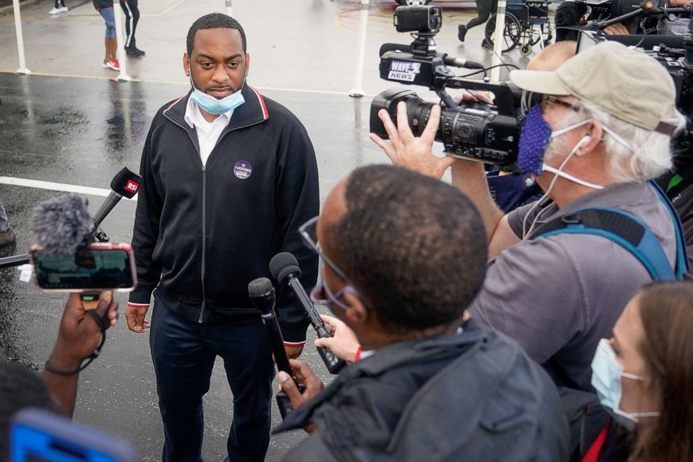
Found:
[[[111,291],[101,292],[96,315],[107,317],[111,326],[118,319],[118,303]],[[70,294],[60,320],[58,339],[50,356],[50,366],[58,370],[75,370],[94,353],[101,341],[101,326],[82,306],[80,294]]]

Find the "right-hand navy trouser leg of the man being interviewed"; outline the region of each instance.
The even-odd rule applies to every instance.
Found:
[[[270,444],[270,403],[275,365],[265,326],[205,326],[205,340],[224,359],[233,394],[226,450],[232,462],[261,462]]]

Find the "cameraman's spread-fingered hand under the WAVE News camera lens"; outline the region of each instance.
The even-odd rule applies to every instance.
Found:
[[[440,106],[437,104],[431,109],[428,124],[423,129],[421,137],[411,133],[407,120],[407,104],[402,101],[397,103],[397,127],[386,110],[379,110],[378,117],[383,122],[390,143],[375,133],[370,134],[370,139],[381,147],[393,164],[440,179],[444,171],[455,162],[453,157],[437,157],[431,151],[440,122]]]

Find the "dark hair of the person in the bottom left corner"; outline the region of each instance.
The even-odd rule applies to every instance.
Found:
[[[34,371],[20,363],[0,361],[0,461],[8,454],[10,418],[25,407],[64,413]]]

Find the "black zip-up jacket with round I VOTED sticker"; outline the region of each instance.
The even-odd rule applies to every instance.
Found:
[[[233,111],[206,166],[184,121],[189,94],[154,116],[140,164],[132,240],[138,287],[130,303],[149,304],[158,286],[163,303],[194,322],[259,323],[248,283],[270,277],[278,252],[296,255],[302,284],[314,286],[317,256],[298,233],[319,212],[312,143],[289,110],[251,87],[242,94],[245,104]],[[305,341],[305,311],[288,287],[277,294],[284,340]]]

